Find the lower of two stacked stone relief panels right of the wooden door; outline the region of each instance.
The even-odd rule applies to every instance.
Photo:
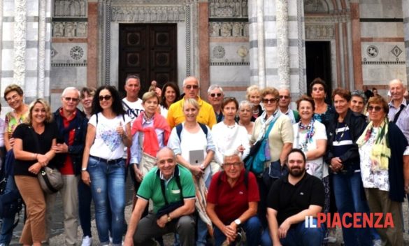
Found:
[[[210,22],[211,37],[248,37],[248,22]]]

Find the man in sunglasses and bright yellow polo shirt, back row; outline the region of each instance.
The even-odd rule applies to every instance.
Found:
[[[216,124],[216,116],[213,107],[203,101],[199,96],[199,80],[193,76],[189,76],[183,80],[183,92],[185,96],[179,101],[173,103],[168,110],[168,123],[171,129],[177,124],[185,121],[185,115],[183,114],[183,104],[186,99],[195,99],[199,102],[200,110],[197,115],[197,121],[206,124],[210,128]]]

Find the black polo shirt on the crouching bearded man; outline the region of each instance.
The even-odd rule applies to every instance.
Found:
[[[288,217],[308,209],[310,205],[324,207],[324,184],[308,173],[295,185],[288,182],[288,175],[280,178],[274,182],[267,196],[267,207],[278,212],[279,225]],[[296,224],[292,224],[292,228],[295,226]]]

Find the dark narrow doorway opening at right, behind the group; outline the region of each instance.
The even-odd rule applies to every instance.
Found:
[[[317,77],[327,83],[327,100],[331,99],[331,42],[306,41],[307,88]]]

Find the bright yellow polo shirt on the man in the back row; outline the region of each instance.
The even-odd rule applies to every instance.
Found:
[[[206,103],[206,101],[203,101],[200,97],[197,102],[200,106],[199,115],[197,115],[197,122],[206,124],[207,126],[212,128],[212,126],[217,123],[215,110],[213,110],[213,107],[209,103]],[[168,124],[169,126],[171,126],[171,129],[185,121],[185,114],[183,114],[184,104],[185,97],[173,103],[169,107],[168,117],[166,120],[168,120]]]

